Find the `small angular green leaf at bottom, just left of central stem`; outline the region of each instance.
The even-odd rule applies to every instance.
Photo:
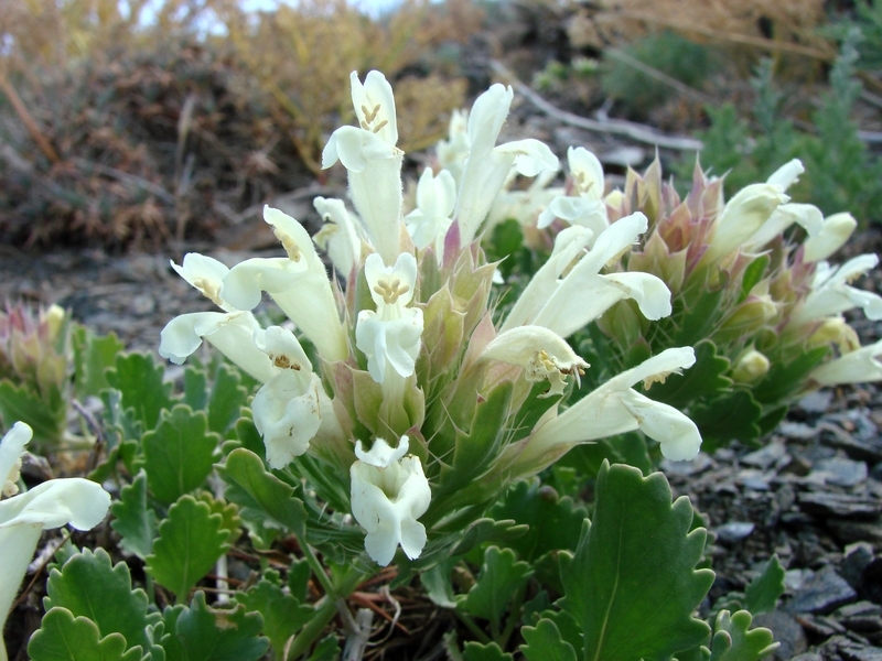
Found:
[[[276,581],[272,581],[272,578]],[[280,657],[284,644],[303,625],[315,615],[312,606],[301,604],[295,597],[284,594],[278,584],[277,572],[266,572],[263,578],[248,592],[236,595],[236,600],[249,613],[263,617],[263,633]]]

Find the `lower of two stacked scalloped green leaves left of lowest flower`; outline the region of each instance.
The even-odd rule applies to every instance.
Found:
[[[220,514],[192,496],[182,496],[159,525],[147,571],[181,602],[229,548],[228,538]]]

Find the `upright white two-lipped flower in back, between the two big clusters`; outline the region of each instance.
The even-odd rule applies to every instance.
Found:
[[[599,235],[610,224],[603,201],[603,165],[583,147],[571,147],[567,151],[567,161],[576,196],[560,195],[552,199],[539,216],[538,226],[548,227],[555,218],[560,218],[571,225],[588,227]]]

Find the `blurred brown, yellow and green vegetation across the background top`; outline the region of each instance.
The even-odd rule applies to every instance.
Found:
[[[882,220],[882,3],[236,0],[0,4],[0,240],[212,240],[322,183],[348,73],[392,80],[400,145],[447,130],[502,59],[558,107],[703,141],[728,193],[800,158],[825,213]],[[556,145],[556,149],[560,145]],[[563,145],[566,147],[566,145]],[[663,153],[686,175],[695,153]]]

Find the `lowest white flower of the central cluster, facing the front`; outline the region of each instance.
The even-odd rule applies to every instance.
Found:
[[[377,438],[370,452],[364,452],[358,441],[358,460],[349,468],[353,517],[367,531],[367,554],[383,566],[392,561],[399,544],[411,560],[426,545],[426,528],[417,519],[429,509],[432,492],[419,457],[405,456],[407,451],[407,436],[395,449]]]

